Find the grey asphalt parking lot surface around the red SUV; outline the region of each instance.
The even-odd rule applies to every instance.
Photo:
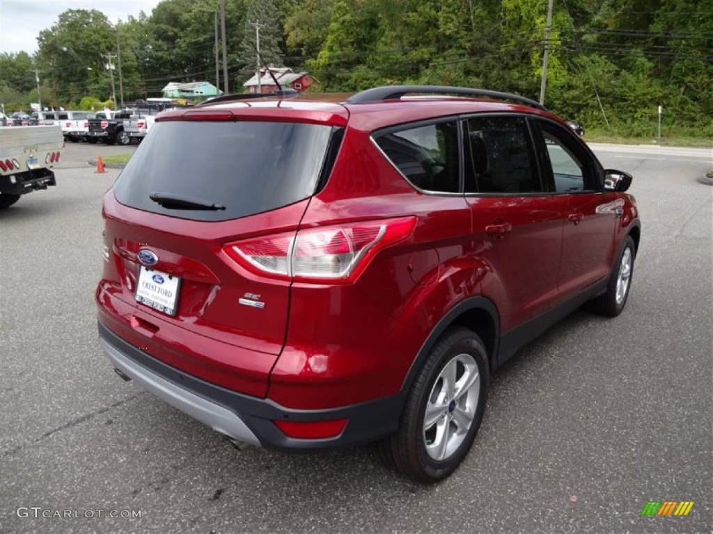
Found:
[[[118,171],[86,162],[127,150],[68,144],[57,187],[0,212],[0,533],[711,531],[713,187],[696,179],[712,151],[595,146],[635,175],[627,308],[578,311],[528,345],[494,375],[461,468],[421,486],[368,447],[237,451],[118,379],[93,303]],[[647,501],[694,506],[642,517]]]

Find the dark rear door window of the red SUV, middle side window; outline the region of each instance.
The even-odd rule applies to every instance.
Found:
[[[523,117],[472,117],[467,122],[466,192],[543,191]]]

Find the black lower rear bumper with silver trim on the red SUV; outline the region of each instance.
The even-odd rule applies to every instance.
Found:
[[[130,345],[98,323],[103,350],[116,369],[141,387],[212,429],[250,444],[284,451],[339,449],[387,436],[399,424],[401,394],[324,410],[287,409],[270,399],[240,394],[167,365]],[[295,439],[272,421],[347,419],[342,434],[328,439]]]

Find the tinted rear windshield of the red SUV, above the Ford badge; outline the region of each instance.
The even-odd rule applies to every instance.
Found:
[[[332,127],[294,122],[157,122],[114,184],[116,199],[144,211],[225,221],[314,194]],[[168,193],[225,210],[166,209]]]

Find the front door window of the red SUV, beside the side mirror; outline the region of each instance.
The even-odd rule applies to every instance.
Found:
[[[553,182],[556,193],[574,193],[597,190],[597,180],[593,176],[593,167],[588,164],[590,158],[572,139],[568,131],[560,130],[548,122],[539,121],[545,141],[545,174]]]

